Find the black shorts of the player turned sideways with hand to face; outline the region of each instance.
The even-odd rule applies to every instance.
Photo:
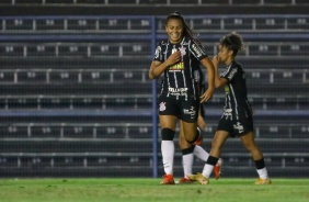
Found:
[[[231,137],[242,136],[253,132],[253,119],[250,109],[240,109],[236,113],[231,109],[225,109],[225,112],[218,123],[217,131],[226,131]]]

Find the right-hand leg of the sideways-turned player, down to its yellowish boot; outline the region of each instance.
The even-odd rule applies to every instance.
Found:
[[[255,182],[256,184],[270,184],[272,183],[267,169],[265,167],[264,157],[259,146],[254,141],[254,133],[249,132],[245,135],[240,136],[240,139],[243,146],[250,152],[256,167],[256,171],[259,173],[259,179]]]

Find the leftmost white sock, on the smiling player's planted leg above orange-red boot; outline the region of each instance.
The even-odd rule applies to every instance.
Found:
[[[163,161],[164,172],[167,175],[173,175],[174,150],[175,147],[173,141],[161,142],[162,161]]]

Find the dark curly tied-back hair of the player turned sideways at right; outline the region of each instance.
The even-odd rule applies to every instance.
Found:
[[[220,45],[231,49],[233,52],[233,56],[236,56],[239,50],[244,49],[242,37],[237,32],[231,32],[225,35],[220,40]]]

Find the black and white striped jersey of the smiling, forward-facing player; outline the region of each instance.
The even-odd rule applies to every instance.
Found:
[[[184,36],[178,44],[171,44],[169,40],[160,42],[156,48],[153,60],[163,63],[176,50],[181,52],[181,61],[168,67],[164,71],[161,96],[187,100],[198,98],[199,92],[196,82],[196,70],[199,69],[201,59],[207,57],[202,45]]]

